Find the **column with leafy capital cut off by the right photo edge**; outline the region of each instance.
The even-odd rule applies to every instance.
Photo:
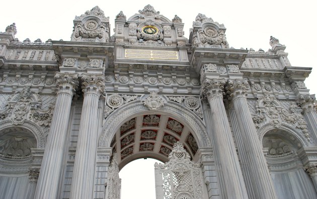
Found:
[[[315,145],[317,145],[317,111],[314,107],[315,99],[310,96],[301,96],[298,104],[303,109],[304,118],[307,122],[307,127],[311,132]]]

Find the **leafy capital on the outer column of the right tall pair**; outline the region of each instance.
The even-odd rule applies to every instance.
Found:
[[[233,100],[238,97],[246,97],[246,88],[249,85],[247,79],[228,80],[227,94]]]

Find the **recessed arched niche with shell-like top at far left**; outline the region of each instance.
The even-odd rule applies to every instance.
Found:
[[[33,163],[32,149],[39,146],[38,138],[26,127],[30,123],[18,126],[2,123],[5,125],[0,130],[0,198],[24,198]]]

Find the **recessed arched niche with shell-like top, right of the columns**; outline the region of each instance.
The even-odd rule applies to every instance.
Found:
[[[278,198],[317,198],[297,154],[305,144],[295,131],[272,128],[264,133],[262,145]]]

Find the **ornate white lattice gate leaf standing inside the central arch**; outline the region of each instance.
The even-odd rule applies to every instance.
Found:
[[[200,164],[190,161],[183,144],[175,143],[169,159],[166,164],[155,163],[156,198],[204,198]]]

